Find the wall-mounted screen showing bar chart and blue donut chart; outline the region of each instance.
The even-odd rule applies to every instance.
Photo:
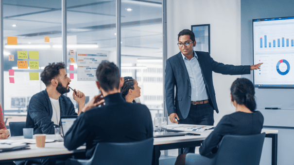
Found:
[[[259,88],[294,88],[294,17],[253,19],[253,62]]]

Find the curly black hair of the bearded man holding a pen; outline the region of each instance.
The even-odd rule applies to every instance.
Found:
[[[63,62],[49,63],[44,68],[44,71],[41,73],[41,80],[47,86],[51,84],[51,80],[59,75],[59,70],[65,69],[65,64]]]

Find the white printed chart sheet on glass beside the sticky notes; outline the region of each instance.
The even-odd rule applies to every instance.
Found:
[[[96,81],[96,70],[103,60],[108,60],[107,51],[77,51],[78,81]]]

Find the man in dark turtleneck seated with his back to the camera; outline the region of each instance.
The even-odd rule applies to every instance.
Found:
[[[64,137],[64,146],[75,150],[86,142],[89,159],[100,142],[132,142],[153,137],[153,125],[146,105],[127,103],[121,96],[119,68],[103,61],[96,71],[96,85],[102,94],[83,108]],[[103,96],[103,98],[102,98]],[[96,107],[102,105],[101,107]]]

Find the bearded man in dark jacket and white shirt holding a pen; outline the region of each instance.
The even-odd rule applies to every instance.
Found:
[[[54,134],[54,125],[59,125],[60,116],[72,116],[81,113],[85,106],[85,94],[81,91],[73,92],[73,99],[79,104],[78,114],[69,97],[63,95],[69,92],[69,82],[65,64],[52,63],[44,68],[41,80],[46,89],[36,93],[30,100],[26,120],[26,128],[34,128],[34,134]],[[39,159],[27,161],[41,163],[42,165],[54,165],[54,159]]]

